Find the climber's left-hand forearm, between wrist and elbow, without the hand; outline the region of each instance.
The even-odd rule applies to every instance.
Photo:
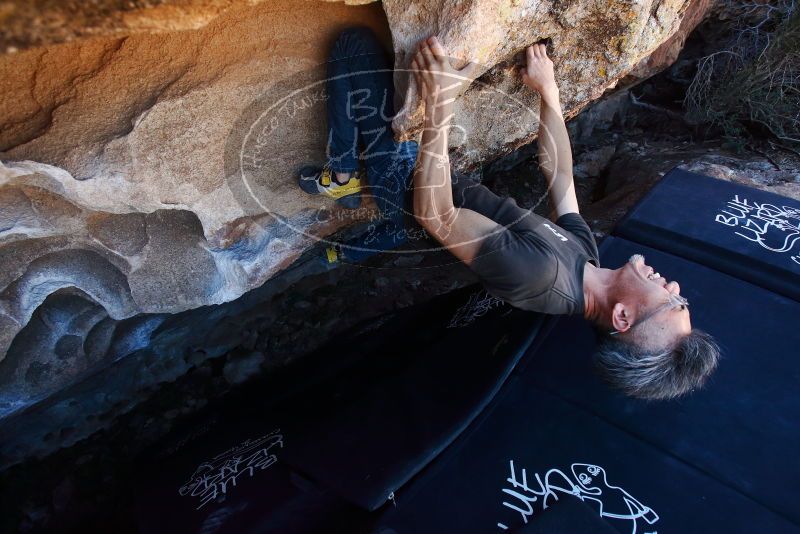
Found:
[[[452,104],[426,105],[424,130],[414,169],[414,215],[423,227],[447,224],[453,216],[448,133]]]

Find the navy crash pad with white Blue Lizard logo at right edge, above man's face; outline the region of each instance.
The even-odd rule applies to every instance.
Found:
[[[676,168],[613,234],[800,301],[796,200]]]

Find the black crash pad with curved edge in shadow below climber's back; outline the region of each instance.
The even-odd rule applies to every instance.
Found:
[[[363,365],[320,388],[314,409],[284,424],[292,436],[284,461],[374,510],[444,450],[499,391],[549,320],[481,289],[459,295],[414,313],[413,324],[394,336],[378,334],[383,343]],[[468,322],[467,309],[487,306]],[[345,347],[328,350],[338,357]]]

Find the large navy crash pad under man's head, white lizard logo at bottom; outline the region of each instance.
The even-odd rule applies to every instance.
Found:
[[[589,325],[561,318],[470,429],[397,492],[379,532],[800,532],[800,304],[622,239],[600,251],[608,267],[645,254],[681,283],[693,326],[722,346],[710,383],[675,401],[627,398],[593,372]],[[548,473],[542,489],[536,476]]]

